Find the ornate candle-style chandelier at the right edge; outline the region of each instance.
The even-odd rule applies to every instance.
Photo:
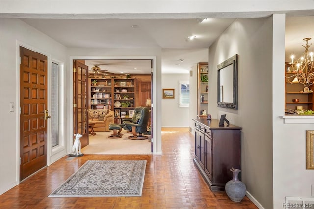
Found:
[[[289,83],[299,83],[305,87],[309,87],[314,84],[314,62],[313,62],[313,52],[308,52],[309,47],[312,44],[308,44],[311,38],[304,38],[306,41],[305,51],[303,55],[294,61],[294,55],[291,56],[290,67],[287,69],[287,80]]]

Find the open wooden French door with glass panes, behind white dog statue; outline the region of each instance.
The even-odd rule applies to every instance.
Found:
[[[73,119],[74,134],[80,133],[81,148],[88,145],[88,66],[74,60],[73,63]]]

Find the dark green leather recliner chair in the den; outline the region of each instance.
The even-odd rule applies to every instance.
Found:
[[[147,125],[150,113],[147,107],[135,107],[134,115],[131,122],[124,122],[123,129],[132,131],[132,136],[129,139],[147,139],[148,136],[143,136],[147,132]]]

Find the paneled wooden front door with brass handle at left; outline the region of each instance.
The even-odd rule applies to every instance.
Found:
[[[20,47],[20,181],[47,165],[47,56]]]

